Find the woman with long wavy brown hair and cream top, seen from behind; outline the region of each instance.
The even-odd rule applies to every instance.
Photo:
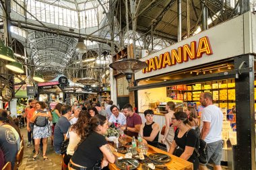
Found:
[[[85,138],[85,128],[88,125],[89,118],[88,112],[86,110],[82,110],[79,112],[78,120],[75,124],[71,125],[66,136],[65,140],[69,138],[69,145],[67,146],[67,153],[63,158],[63,162],[65,165],[68,165],[69,160],[71,159],[75,149],[77,148],[77,144],[80,140],[84,140]]]

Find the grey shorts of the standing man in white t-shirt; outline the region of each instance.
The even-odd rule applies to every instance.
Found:
[[[213,163],[214,165],[220,165],[222,159],[222,145],[223,141],[218,140],[216,142],[207,143],[207,163]],[[201,164],[200,165],[206,165]]]

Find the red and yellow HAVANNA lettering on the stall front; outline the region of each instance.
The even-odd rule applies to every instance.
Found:
[[[170,52],[164,52],[164,54],[146,60],[145,62],[148,64],[148,67],[143,69],[142,73],[164,69],[177,65],[177,63],[189,62],[189,60],[201,58],[203,54],[213,54],[210,40],[207,36],[199,39],[198,46],[197,42],[193,41],[190,45],[185,44],[177,49],[170,50]]]

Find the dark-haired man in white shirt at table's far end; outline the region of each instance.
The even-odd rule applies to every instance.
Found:
[[[116,128],[119,128],[120,126],[126,126],[126,117],[124,114],[119,112],[117,105],[111,105],[110,110],[112,114],[108,120],[108,126],[113,125]]]

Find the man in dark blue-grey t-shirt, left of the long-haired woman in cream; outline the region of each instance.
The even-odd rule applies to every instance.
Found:
[[[67,130],[71,125],[69,123],[69,118],[71,117],[71,107],[70,105],[63,105],[61,107],[61,118],[59,118],[57,124],[54,129],[54,150],[55,153],[61,154],[61,144],[64,140],[65,135],[67,134]]]

